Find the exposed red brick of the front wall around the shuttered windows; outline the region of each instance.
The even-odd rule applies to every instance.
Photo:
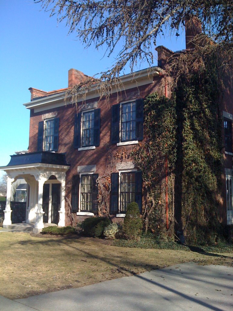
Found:
[[[66,195],[70,195],[71,188],[67,187],[71,184],[72,176],[77,174],[77,166],[79,165],[96,165],[96,173],[103,174],[105,170],[105,160],[109,147],[113,152],[122,150],[121,146],[111,143],[110,131],[111,131],[111,106],[121,101],[130,100],[134,98],[145,98],[149,93],[160,90],[161,77],[155,79],[154,83],[146,86],[140,86],[126,90],[117,94],[111,95],[110,103],[107,104],[105,100],[101,100],[98,103],[98,108],[101,109],[100,118],[100,146],[94,150],[78,151],[73,147],[74,137],[74,122],[76,108],[74,105],[67,105],[59,107],[57,109],[45,110],[43,112],[34,113],[31,110],[30,114],[30,138],[29,138],[29,152],[37,151],[37,135],[38,135],[38,123],[43,120],[43,114],[54,113],[59,118],[59,153],[66,153],[66,161],[71,164],[70,169],[66,172]],[[87,101],[94,102],[98,98]],[[81,104],[81,103],[80,103]],[[135,145],[124,146],[127,152],[130,152]],[[68,207],[66,206],[66,209]],[[78,221],[83,220],[83,216],[77,218]],[[116,219],[115,221],[118,221]],[[119,220],[120,221],[120,220]],[[66,217],[66,224],[70,224],[70,220]]]

